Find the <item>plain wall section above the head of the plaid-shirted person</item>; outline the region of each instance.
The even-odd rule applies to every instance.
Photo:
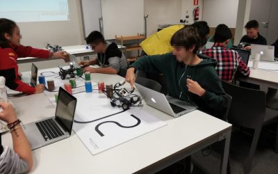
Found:
[[[239,0],[204,0],[203,20],[208,26],[226,24],[229,28],[236,27]],[[240,0],[241,1],[241,0]]]

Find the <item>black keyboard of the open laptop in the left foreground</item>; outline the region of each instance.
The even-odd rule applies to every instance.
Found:
[[[55,139],[59,136],[64,135],[61,129],[51,118],[36,122],[35,125],[38,127],[40,134],[42,134],[42,137],[45,141],[49,141],[51,139]]]

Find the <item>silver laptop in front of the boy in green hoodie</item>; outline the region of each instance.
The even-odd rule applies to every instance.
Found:
[[[163,93],[158,93],[155,90],[146,88],[145,86],[142,86],[140,84],[135,84],[135,86],[149,106],[163,111],[170,116],[183,116],[184,114],[196,109],[193,104],[190,104],[188,102],[183,102],[174,97],[170,97],[169,95],[165,96]]]

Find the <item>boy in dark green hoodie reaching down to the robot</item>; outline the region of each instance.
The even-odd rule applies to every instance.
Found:
[[[173,52],[144,56],[134,62],[126,72],[126,81],[133,84],[136,70],[163,72],[167,79],[168,94],[179,100],[193,102],[202,111],[222,116],[224,90],[215,71],[216,61],[197,55],[202,39],[197,29],[186,26],[171,38]]]

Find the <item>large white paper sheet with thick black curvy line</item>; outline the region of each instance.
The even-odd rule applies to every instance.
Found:
[[[97,91],[75,96],[78,102],[74,120],[83,123],[74,122],[73,129],[92,155],[167,125],[140,107],[121,112],[122,108],[111,106],[110,100]]]

